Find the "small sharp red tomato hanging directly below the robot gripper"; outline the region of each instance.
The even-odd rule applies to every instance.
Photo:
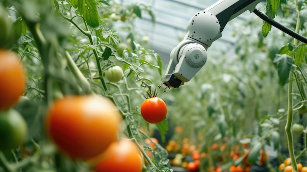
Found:
[[[160,123],[167,114],[166,104],[161,98],[147,98],[141,105],[141,114],[148,123]]]

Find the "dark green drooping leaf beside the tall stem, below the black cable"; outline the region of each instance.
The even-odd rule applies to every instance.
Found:
[[[273,63],[277,64],[276,69],[279,76],[279,83],[283,86],[288,81],[293,59],[287,54],[277,54]]]

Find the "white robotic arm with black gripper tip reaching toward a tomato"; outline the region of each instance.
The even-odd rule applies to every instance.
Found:
[[[167,88],[178,88],[189,81],[204,65],[206,50],[222,36],[225,25],[263,0],[219,0],[196,13],[188,22],[184,39],[170,54],[163,83]]]

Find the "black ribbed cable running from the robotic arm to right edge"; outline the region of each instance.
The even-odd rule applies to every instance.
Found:
[[[255,9],[253,11],[258,17],[260,17],[262,20],[264,20],[265,22],[269,23],[270,25],[275,26],[276,28],[280,29],[281,31],[283,31],[284,33],[292,36],[293,38],[302,41],[303,43],[307,44],[307,38],[305,38],[304,36],[294,32],[293,30],[289,29],[288,27],[281,25],[280,23],[277,23],[275,20],[269,18],[268,16],[266,16],[265,14],[263,14],[261,11],[259,11],[258,9]]]

